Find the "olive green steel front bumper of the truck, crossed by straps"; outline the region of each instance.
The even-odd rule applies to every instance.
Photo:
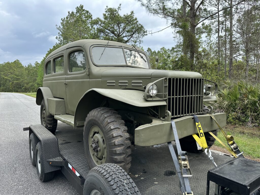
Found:
[[[221,127],[226,126],[226,113],[213,114]],[[203,132],[218,129],[210,115],[197,115]],[[198,133],[193,116],[174,119],[179,139]],[[174,141],[172,125],[169,121],[154,118],[152,123],[141,125],[135,129],[134,143],[137,146],[154,146]]]

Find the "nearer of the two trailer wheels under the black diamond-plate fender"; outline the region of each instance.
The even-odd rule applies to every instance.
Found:
[[[42,182],[50,181],[54,177],[54,171],[45,173],[43,165],[43,150],[42,143],[39,141],[35,149],[35,161],[36,161],[36,170],[39,179]]]

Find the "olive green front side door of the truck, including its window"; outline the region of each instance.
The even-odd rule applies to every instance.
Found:
[[[74,115],[77,103],[83,94],[89,90],[89,68],[86,51],[82,47],[68,48],[67,74],[66,74],[66,96],[68,114]]]

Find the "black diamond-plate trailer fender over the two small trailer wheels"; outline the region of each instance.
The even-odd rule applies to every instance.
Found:
[[[29,136],[32,132],[35,133],[42,143],[44,172],[48,173],[51,171],[60,170],[60,166],[51,166],[47,162],[49,159],[60,157],[59,145],[56,136],[42,125],[30,125]]]

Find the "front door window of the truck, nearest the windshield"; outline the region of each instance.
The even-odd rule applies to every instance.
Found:
[[[86,69],[86,57],[83,51],[76,51],[69,56],[69,72],[79,72]]]

